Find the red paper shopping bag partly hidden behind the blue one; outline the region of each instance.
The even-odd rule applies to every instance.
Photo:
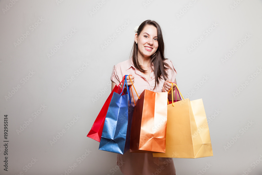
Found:
[[[101,140],[101,136],[102,136],[102,131],[103,131],[103,126],[104,126],[104,122],[105,122],[105,118],[106,118],[106,113],[110,104],[110,101],[112,99],[113,93],[116,92],[118,94],[121,93],[122,88],[120,86],[120,84],[125,80],[125,78],[123,78],[123,80],[119,83],[119,85],[115,85],[113,91],[110,93],[110,95],[108,96],[108,98],[106,99],[105,104],[103,105],[102,109],[100,110],[99,114],[96,117],[96,120],[91,128],[91,130],[89,131],[87,137],[90,137],[91,139],[94,139],[98,142],[100,142]]]

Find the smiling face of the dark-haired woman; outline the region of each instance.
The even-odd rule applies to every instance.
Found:
[[[138,45],[138,55],[150,57],[158,48],[156,27],[146,25],[139,36],[135,34],[135,41]]]

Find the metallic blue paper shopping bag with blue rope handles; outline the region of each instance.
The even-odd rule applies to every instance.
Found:
[[[127,75],[123,83],[127,85]],[[127,94],[113,93],[105,118],[99,150],[124,154],[130,148],[130,130],[134,110],[129,88]]]

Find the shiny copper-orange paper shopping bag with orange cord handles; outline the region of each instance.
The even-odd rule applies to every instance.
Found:
[[[130,152],[165,152],[167,92],[145,89],[133,112]]]

